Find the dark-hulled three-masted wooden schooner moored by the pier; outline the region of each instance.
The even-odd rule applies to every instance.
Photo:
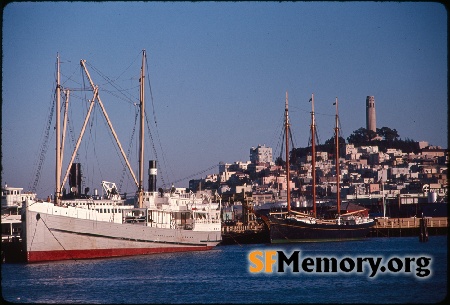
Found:
[[[311,112],[311,137],[312,137],[312,196],[313,214],[306,214],[291,209],[290,203],[290,175],[289,175],[289,149],[288,149],[288,94],[286,92],[285,103],[285,129],[286,129],[286,173],[287,173],[287,211],[269,213],[265,219],[270,226],[271,243],[295,243],[313,241],[344,241],[361,239],[368,235],[370,228],[375,225],[372,219],[365,215],[365,210],[340,214],[340,194],[339,194],[339,125],[338,125],[338,101],[336,98],[336,177],[337,179],[337,212],[336,219],[323,220],[317,218],[316,211],[316,187],[315,187],[315,120],[314,120],[314,95],[312,95]]]

